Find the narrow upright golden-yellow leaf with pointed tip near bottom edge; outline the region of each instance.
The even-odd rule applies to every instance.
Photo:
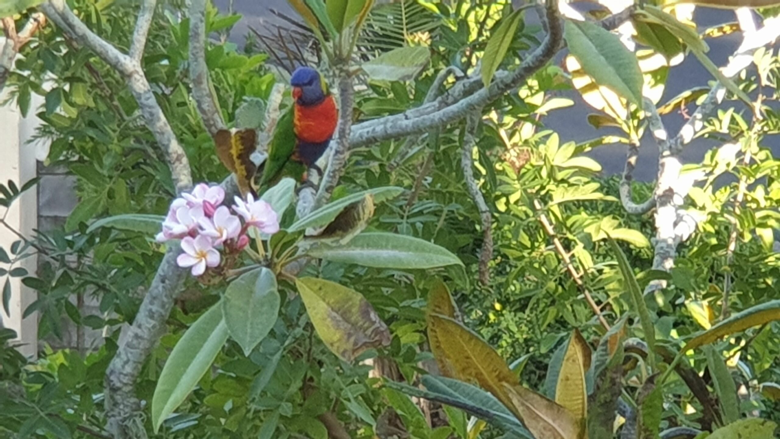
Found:
[[[590,369],[590,347],[580,331],[574,330],[558,373],[555,402],[569,410],[576,422],[583,426],[587,416],[587,369]]]

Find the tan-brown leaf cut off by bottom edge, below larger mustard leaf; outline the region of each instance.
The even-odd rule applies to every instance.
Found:
[[[578,439],[581,428],[568,410],[523,386],[504,384],[526,428],[537,439]]]

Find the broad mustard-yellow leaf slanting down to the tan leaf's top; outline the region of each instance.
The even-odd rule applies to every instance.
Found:
[[[427,320],[431,351],[440,368],[445,365],[441,372],[479,384],[512,410],[504,384],[517,384],[517,377],[498,352],[454,319],[429,313]]]

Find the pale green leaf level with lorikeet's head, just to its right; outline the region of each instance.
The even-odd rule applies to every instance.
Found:
[[[394,48],[361,66],[372,80],[413,80],[431,60],[424,46]]]

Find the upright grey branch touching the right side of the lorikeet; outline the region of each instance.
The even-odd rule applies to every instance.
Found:
[[[349,158],[349,134],[352,131],[353,106],[355,105],[355,89],[353,87],[353,77],[349,71],[339,71],[339,129],[331,159],[328,161],[328,168],[320,182],[320,189],[317,191],[317,198],[314,200],[314,206],[320,207],[331,197],[336,184],[339,184],[339,178],[344,173],[346,161]]]

